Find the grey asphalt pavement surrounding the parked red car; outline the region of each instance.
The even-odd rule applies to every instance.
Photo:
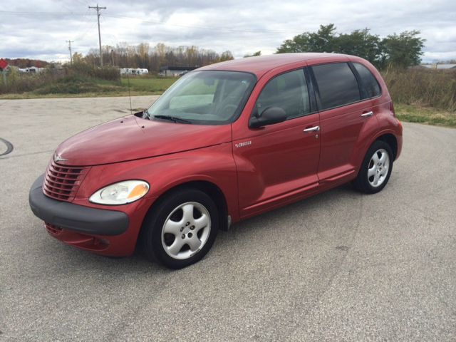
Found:
[[[404,123],[383,192],[338,187],[249,219],[170,271],[61,244],[28,207],[60,142],[128,108],[0,100],[14,146],[0,157],[0,341],[456,340],[456,130]]]

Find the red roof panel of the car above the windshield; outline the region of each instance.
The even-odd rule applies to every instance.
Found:
[[[274,55],[234,59],[204,66],[198,70],[245,71],[261,77],[264,73],[286,64],[311,61],[321,58],[348,57],[338,53],[277,53]]]

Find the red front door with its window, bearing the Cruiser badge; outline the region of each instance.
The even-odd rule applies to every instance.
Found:
[[[271,107],[284,109],[287,120],[252,128],[246,138],[233,141],[241,217],[291,202],[318,186],[319,119],[311,113],[303,69],[271,78],[252,115]]]

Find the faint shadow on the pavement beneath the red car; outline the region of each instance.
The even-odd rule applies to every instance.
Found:
[[[212,264],[211,259],[232,258],[233,249],[237,248],[239,240],[242,244],[257,242],[261,244],[261,237],[267,243],[267,234],[274,229],[283,229],[284,234],[294,234],[301,229],[311,229],[316,224],[318,217],[328,207],[337,209],[337,204],[348,202],[353,204],[362,200],[363,195],[354,191],[351,185],[341,185],[333,190],[303,199],[299,202],[286,205],[271,212],[266,212],[256,217],[246,219],[243,222],[234,224],[228,232],[219,231],[212,250],[199,263],[187,267],[195,269],[204,267],[205,264]],[[326,208],[326,209],[325,209]],[[279,227],[278,227],[279,226]],[[103,257],[86,252],[75,247],[62,244],[57,240],[46,237],[43,239],[41,251],[46,251],[46,267],[64,267],[66,270],[77,269],[78,273],[85,271],[98,271],[107,274],[169,274],[172,270],[166,269],[160,264],[145,259],[138,251],[130,257]],[[38,256],[38,258],[40,258]],[[242,259],[242,255],[239,256]],[[209,262],[208,262],[209,261]],[[54,266],[53,266],[54,265]]]

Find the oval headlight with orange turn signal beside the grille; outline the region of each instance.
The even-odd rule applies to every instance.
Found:
[[[127,204],[145,196],[149,185],[142,180],[124,180],[108,185],[90,196],[89,201],[98,204]]]

